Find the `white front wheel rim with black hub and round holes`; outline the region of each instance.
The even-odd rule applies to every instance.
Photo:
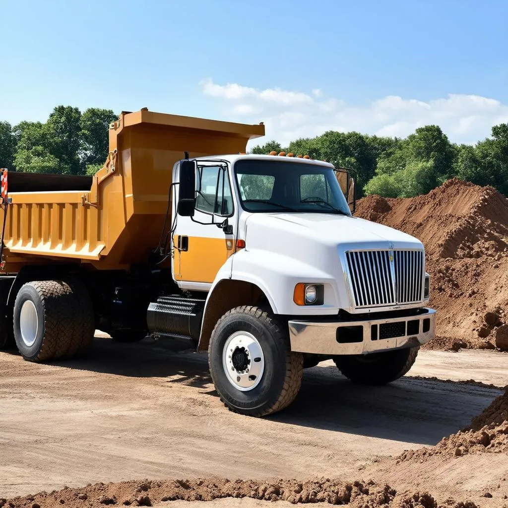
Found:
[[[223,367],[237,390],[248,392],[256,388],[265,370],[265,356],[258,339],[248,332],[230,335],[224,345]]]

